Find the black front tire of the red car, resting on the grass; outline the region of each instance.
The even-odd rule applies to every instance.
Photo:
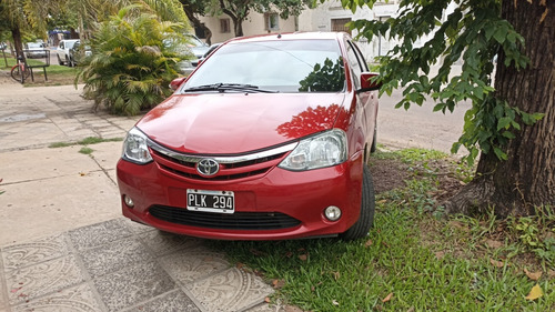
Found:
[[[369,234],[370,228],[374,225],[375,211],[374,183],[372,174],[366,164],[364,164],[362,177],[362,201],[361,214],[359,220],[349,230],[340,234],[340,238],[346,241],[364,238]]]

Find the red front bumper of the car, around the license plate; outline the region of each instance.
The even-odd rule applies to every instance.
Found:
[[[357,154],[336,167],[304,172],[274,167],[261,175],[213,183],[165,172],[157,162],[140,165],[120,160],[117,172],[123,215],[133,221],[199,238],[284,240],[335,235],[352,227],[360,213],[362,165],[362,155]],[[186,189],[233,191],[235,213],[188,211]],[[124,203],[124,195],[133,200],[133,208]],[[330,205],[342,210],[335,222],[324,217]],[[262,219],[246,220],[252,215]],[[198,218],[202,222],[194,221]],[[275,221],[280,218],[286,220]],[[262,225],[244,227],[245,220]],[[268,220],[280,225],[274,222],[264,228]]]

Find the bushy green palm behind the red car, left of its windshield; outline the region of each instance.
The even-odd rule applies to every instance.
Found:
[[[176,63],[186,56],[184,24],[159,21],[140,6],[121,9],[100,24],[91,40],[93,54],[75,78],[85,83],[83,95],[111,113],[139,114],[171,94],[169,83],[178,77]]]

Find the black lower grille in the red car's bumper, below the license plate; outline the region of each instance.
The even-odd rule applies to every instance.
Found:
[[[157,219],[182,225],[225,230],[280,230],[294,228],[301,221],[281,212],[235,212],[232,214],[189,211],[183,208],[154,205],[149,210]]]

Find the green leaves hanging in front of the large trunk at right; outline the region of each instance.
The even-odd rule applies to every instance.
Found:
[[[363,6],[372,8],[374,2],[343,0],[353,11]],[[453,2],[456,7],[446,14]],[[367,39],[382,36],[400,40],[385,57],[379,58],[382,92],[391,94],[394,89],[403,88],[404,97],[397,108],[422,105],[425,94],[430,94],[437,103],[434,111],[445,113],[453,111],[457,102],[472,100],[463,135],[452,149],[456,152],[464,145],[470,151],[466,158],[470,162],[480,151],[506,159],[503,147],[514,138],[513,131],[521,129],[519,121],[533,124],[543,117],[495,97],[492,80],[497,56],[503,53],[504,66],[517,70],[529,62],[523,37],[501,17],[497,0],[404,0],[400,2],[398,17],[385,21],[356,20],[352,27]],[[417,47],[423,37],[430,40]],[[450,77],[457,61],[462,61],[462,73]],[[431,71],[433,66],[440,67],[437,73]]]

